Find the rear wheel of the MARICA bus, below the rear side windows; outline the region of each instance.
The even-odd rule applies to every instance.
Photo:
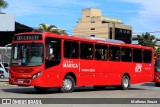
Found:
[[[122,77],[121,85],[116,86],[117,89],[121,89],[121,90],[128,90],[129,87],[130,87],[130,78],[128,75],[124,75]]]

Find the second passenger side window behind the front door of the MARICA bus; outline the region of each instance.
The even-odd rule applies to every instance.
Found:
[[[80,50],[81,59],[93,59],[93,44],[81,43]]]

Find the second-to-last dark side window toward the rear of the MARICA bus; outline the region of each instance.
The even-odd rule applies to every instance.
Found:
[[[142,62],[142,49],[133,49],[133,62]]]

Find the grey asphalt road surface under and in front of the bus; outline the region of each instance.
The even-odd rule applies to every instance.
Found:
[[[49,89],[45,93],[38,93],[33,87],[1,86],[0,98],[159,98],[160,87],[155,87],[153,82],[132,85],[129,90],[116,90],[106,87],[104,90],[95,90],[93,87],[76,87],[72,93],[59,93],[57,89]],[[96,99],[95,99],[96,100]],[[2,105],[6,106],[6,105]],[[1,106],[1,107],[2,107]],[[13,105],[17,107],[17,105]],[[13,107],[12,106],[12,107]],[[27,106],[27,105],[26,105]],[[31,105],[36,106],[36,105]],[[39,107],[40,105],[38,105]],[[42,106],[42,105],[41,105]],[[55,107],[133,107],[142,104],[54,104]],[[143,104],[144,107],[158,107],[159,104]]]

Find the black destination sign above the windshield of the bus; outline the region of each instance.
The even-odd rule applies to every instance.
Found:
[[[41,34],[15,35],[14,40],[42,40]]]

